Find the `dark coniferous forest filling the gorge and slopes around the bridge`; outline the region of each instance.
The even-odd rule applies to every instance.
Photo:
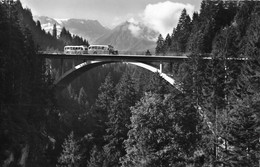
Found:
[[[183,9],[155,48],[188,53],[164,64],[177,88],[110,64],[57,95],[58,62],[37,52],[69,44],[88,41],[55,25],[46,33],[19,0],[0,1],[0,166],[260,166],[260,2],[205,0],[193,16]]]

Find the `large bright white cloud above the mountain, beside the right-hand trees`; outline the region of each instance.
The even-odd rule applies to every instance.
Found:
[[[170,1],[148,4],[142,14],[142,20],[146,26],[166,36],[167,33],[171,34],[173,28],[178,24],[184,8],[192,16],[195,7],[191,4]]]

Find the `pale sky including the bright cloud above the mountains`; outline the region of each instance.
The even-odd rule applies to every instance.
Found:
[[[114,28],[125,21],[142,22],[166,35],[178,23],[185,8],[192,16],[202,0],[20,0],[33,15],[55,19],[98,20]]]

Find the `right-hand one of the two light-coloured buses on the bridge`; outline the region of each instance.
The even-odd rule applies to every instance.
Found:
[[[90,45],[88,54],[118,54],[111,45]]]

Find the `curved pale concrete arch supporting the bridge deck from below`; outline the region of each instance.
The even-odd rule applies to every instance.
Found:
[[[54,81],[56,91],[59,92],[64,88],[66,88],[67,85],[69,85],[69,83],[71,83],[75,78],[79,77],[84,72],[92,68],[102,66],[104,64],[109,64],[109,63],[117,63],[117,61],[91,61],[90,63],[84,62],[75,66],[74,68],[65,72],[60,78]],[[168,83],[170,83],[171,85],[175,86],[177,89],[180,90],[180,87],[176,84],[175,80],[169,77],[167,74],[162,73],[158,68],[155,68],[152,65],[141,63],[141,62],[127,62],[127,63],[142,67],[153,73],[158,72],[161,75],[161,77],[164,78]]]

